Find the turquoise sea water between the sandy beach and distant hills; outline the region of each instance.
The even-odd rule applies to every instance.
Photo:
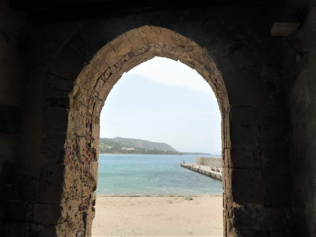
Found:
[[[197,156],[100,154],[97,195],[222,196],[221,181],[180,166]]]

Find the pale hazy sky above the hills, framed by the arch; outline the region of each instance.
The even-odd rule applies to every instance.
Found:
[[[117,136],[221,154],[216,97],[195,70],[155,57],[124,73],[105,102],[100,137]]]

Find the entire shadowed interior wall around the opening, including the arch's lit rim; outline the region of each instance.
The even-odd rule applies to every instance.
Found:
[[[224,236],[313,236],[313,7],[290,39],[309,52],[297,63],[270,35],[283,14],[271,2],[36,24],[1,4],[1,236],[91,235],[99,114],[122,73],[154,56],[196,69],[217,96]]]

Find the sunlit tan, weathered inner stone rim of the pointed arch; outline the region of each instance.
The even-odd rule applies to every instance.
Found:
[[[72,42],[69,45],[74,50],[78,50],[79,55],[81,54],[79,47],[73,45]],[[109,92],[121,75],[155,56],[180,60],[196,69],[215,92],[222,117],[228,118],[230,113],[227,92],[221,75],[207,52],[194,41],[165,28],[143,26],[130,30],[103,46],[76,79],[74,90],[70,95],[69,122],[65,143],[64,164],[71,167],[69,170],[65,170],[65,181],[69,180],[72,185],[64,186],[64,198],[66,201],[67,197],[69,199],[85,197],[78,199],[75,206],[79,206],[79,209],[86,213],[86,220],[82,219],[82,222],[87,224],[84,225],[79,216],[77,216],[76,223],[79,226],[83,225],[82,228],[87,233],[90,233],[94,217],[91,208],[95,200],[94,191],[97,183],[101,110]],[[225,134],[229,134],[227,122],[228,119],[222,121],[222,129]],[[227,138],[224,137],[224,139],[224,144],[230,143]],[[67,177],[68,175],[70,176]],[[87,190],[80,190],[85,187]],[[71,189],[76,190],[69,193]],[[82,195],[84,192],[86,192],[85,195]],[[227,193],[225,195],[231,197]],[[66,211],[68,212],[67,208]],[[76,218],[73,217],[73,219]]]

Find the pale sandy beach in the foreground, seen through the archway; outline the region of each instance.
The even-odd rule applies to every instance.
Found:
[[[223,197],[102,197],[93,237],[223,236]]]

